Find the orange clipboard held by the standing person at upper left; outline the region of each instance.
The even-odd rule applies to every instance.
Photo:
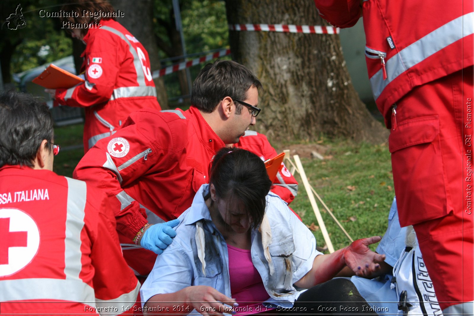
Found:
[[[47,89],[67,89],[84,82],[84,79],[50,64],[38,77],[31,81]]]

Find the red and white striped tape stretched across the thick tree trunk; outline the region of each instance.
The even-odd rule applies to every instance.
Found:
[[[306,34],[339,34],[339,27],[285,24],[229,24],[231,31],[264,31]]]

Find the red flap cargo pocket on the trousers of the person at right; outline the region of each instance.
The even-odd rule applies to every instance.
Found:
[[[446,179],[438,115],[398,124],[389,137],[401,226],[447,215]]]

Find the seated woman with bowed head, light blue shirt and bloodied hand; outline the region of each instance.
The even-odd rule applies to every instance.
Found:
[[[380,269],[377,262],[384,256],[367,247],[380,237],[359,239],[323,255],[316,251],[310,230],[285,202],[269,192],[271,185],[258,156],[244,149],[219,150],[210,184],[201,186],[191,208],[179,217],[177,236],[157,257],[140,290],[146,302],[144,311],[283,312],[282,307],[293,307],[300,296],[297,287],[311,288],[304,293],[304,301],[314,302],[331,288],[342,293],[350,281],[331,280],[332,287],[329,284],[323,289],[314,285],[330,280],[346,265],[357,275]],[[350,290],[332,297],[346,302],[337,303],[337,307],[311,303],[292,312],[374,314],[355,287]]]

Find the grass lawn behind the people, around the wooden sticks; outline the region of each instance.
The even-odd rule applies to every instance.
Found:
[[[82,129],[82,124],[55,128],[55,143],[62,146],[61,153],[55,157],[55,172],[59,175],[71,177],[82,158]],[[278,152],[290,148],[292,156],[300,156],[310,184],[354,240],[383,235],[395,194],[387,146],[324,139],[273,146]],[[310,158],[313,149],[323,154],[324,160]],[[296,179],[300,183],[298,196],[290,206],[305,224],[315,229],[318,246],[323,247],[325,242],[301,178],[296,175]],[[347,246],[349,239],[319,202],[318,205],[334,248]]]

